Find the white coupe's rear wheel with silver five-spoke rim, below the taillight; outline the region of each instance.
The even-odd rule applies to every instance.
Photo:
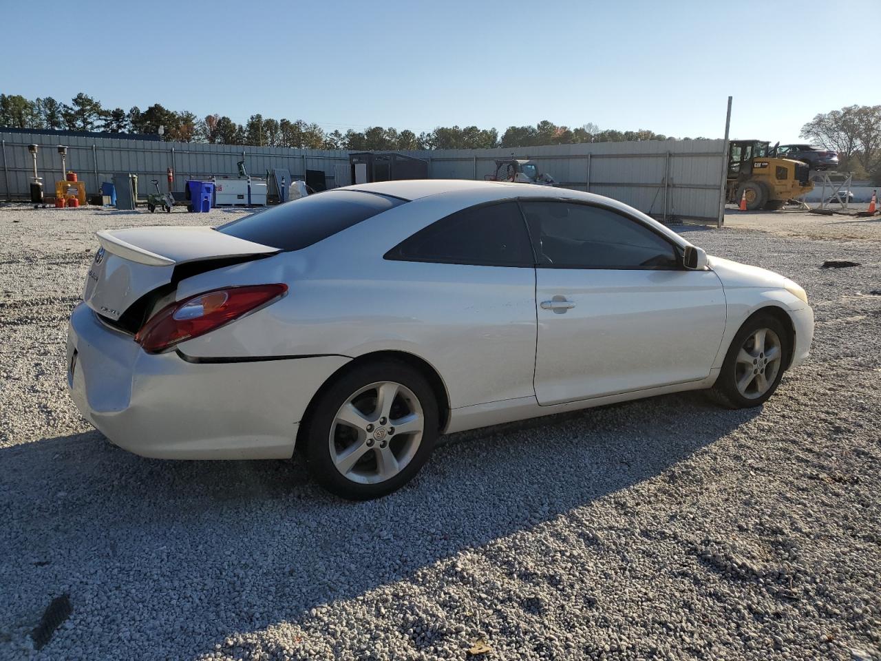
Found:
[[[418,370],[382,360],[324,390],[306,431],[315,480],[342,498],[366,501],[396,491],[426,463],[438,438],[438,406]]]

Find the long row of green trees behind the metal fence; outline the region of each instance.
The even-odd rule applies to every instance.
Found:
[[[594,123],[576,128],[543,121],[535,126],[509,126],[501,136],[496,129],[477,126],[439,126],[418,135],[409,129],[371,126],[366,130],[325,131],[303,120],[276,120],[251,115],[248,122],[235,123],[226,115],[198,117],[187,110],[175,111],[155,103],[143,111],[134,107],[103,108],[99,100],[78,93],[70,103],[52,97],[26,99],[18,94],[0,94],[0,126],[19,129],[66,129],[107,133],[156,134],[171,142],[201,142],[215,145],[255,145],[348,151],[476,149],[482,147],[529,147],[572,145],[583,142],[666,140],[651,130],[600,130]],[[672,138],[670,138],[672,139]],[[688,139],[688,138],[684,138]]]

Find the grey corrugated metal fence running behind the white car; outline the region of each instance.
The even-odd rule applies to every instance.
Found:
[[[33,165],[27,145],[40,146],[38,174],[47,194],[61,177],[59,138],[27,133],[0,133],[4,199],[27,198]],[[329,188],[348,181],[348,152],[286,147],[240,147],[196,143],[144,142],[100,137],[63,137],[68,147],[67,167],[78,173],[90,192],[114,173],[138,175],[139,189],[151,179],[166,189],[167,167],[174,168],[174,190],[182,191],[189,178],[235,175],[245,160],[251,175],[263,176],[273,167],[286,167],[295,179],[307,169],[322,170]],[[495,169],[494,160],[529,158],[539,169],[567,188],[614,197],[658,219],[715,222],[721,195],[723,140],[666,140],[646,142],[548,145],[523,149],[437,150],[404,152],[429,161],[433,179],[484,179]]]

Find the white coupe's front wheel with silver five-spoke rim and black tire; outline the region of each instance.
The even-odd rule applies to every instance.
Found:
[[[789,336],[774,316],[752,316],[731,341],[710,396],[732,409],[750,408],[774,394],[785,371]]]

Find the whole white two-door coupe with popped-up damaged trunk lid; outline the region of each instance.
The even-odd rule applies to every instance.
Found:
[[[383,182],[98,238],[68,339],[85,418],[145,457],[298,448],[352,499],[447,432],[680,390],[760,405],[813,330],[791,280],[567,189]]]

